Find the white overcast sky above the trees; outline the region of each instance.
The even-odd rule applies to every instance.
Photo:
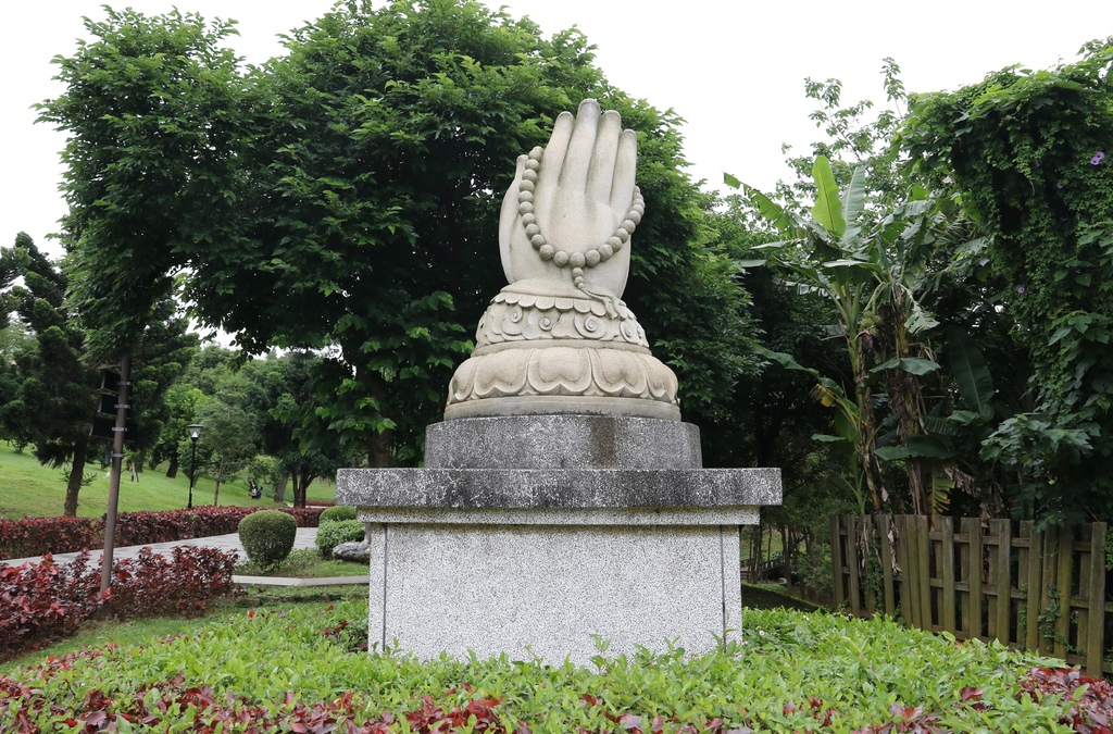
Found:
[[[65,213],[57,190],[65,139],[35,124],[30,106],[60,94],[50,59],[73,52],[75,39],[85,32],[82,16],[102,19],[101,4],[35,0],[6,6],[0,245],[10,245],[23,231],[59,252],[46,236]],[[109,4],[148,14],[176,6],[206,18],[233,18],[240,33],[233,47],[260,62],[283,51],[278,33],[317,18],[333,1]],[[1073,59],[1085,41],[1113,35],[1110,0],[513,0],[506,8],[532,18],[546,36],[579,26],[598,47],[597,62],[612,84],[683,117],[695,178],[718,185],[726,170],[767,189],[787,174],[782,143],[800,149],[818,139],[807,119],[812,105],[804,98],[805,77],[841,79],[844,102],[883,102],[879,71],[887,56],[902,67],[909,91],[932,91],[978,81],[1013,63],[1048,67]]]

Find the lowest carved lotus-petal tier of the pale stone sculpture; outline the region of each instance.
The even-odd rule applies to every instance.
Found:
[[[680,420],[677,378],[648,349],[632,345],[486,348],[456,370],[444,418],[539,413]]]

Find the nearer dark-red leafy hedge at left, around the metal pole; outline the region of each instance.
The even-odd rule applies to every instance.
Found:
[[[191,616],[232,589],[236,554],[181,546],[173,558],[150,548],[112,564],[112,584],[100,594],[100,564],[82,552],[68,564],[46,556],[37,564],[0,567],[0,660],[72,635],[110,603],[116,616]]]

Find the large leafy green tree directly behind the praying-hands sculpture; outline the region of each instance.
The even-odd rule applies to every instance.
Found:
[[[710,199],[680,172],[679,119],[608,85],[579,31],[546,40],[477,2],[353,1],[240,77],[218,50],[226,25],[129,11],[88,26],[101,40],[60,59],[68,91],[42,117],[72,134],[76,297],[105,324],[104,349],[126,349],[180,270],[200,321],[246,351],[325,350],[315,384],[327,400],[306,433],[372,464],[417,461],[503,285],[496,226],[514,159],[593,96],[639,133],[647,214],[627,300],[678,372],[686,410],[712,405],[752,365],[745,293],[702,229]],[[173,61],[167,38],[188,41]],[[136,115],[135,99],[154,108]],[[147,200],[148,176],[165,207]],[[110,257],[127,267],[104,266]]]

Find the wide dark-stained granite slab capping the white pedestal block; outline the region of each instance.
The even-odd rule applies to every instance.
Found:
[[[780,505],[780,469],[341,469],[367,508],[728,508]]]

